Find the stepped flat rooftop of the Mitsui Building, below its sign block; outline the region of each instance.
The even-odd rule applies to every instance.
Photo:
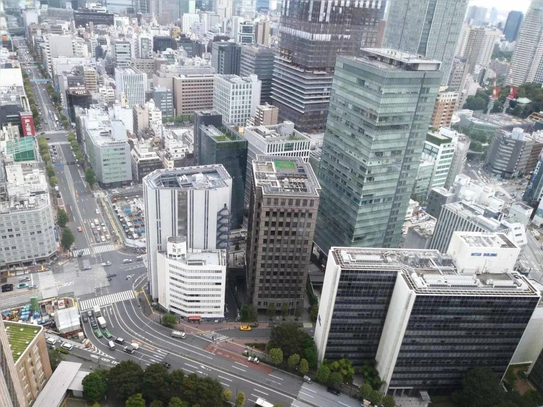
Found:
[[[418,295],[540,296],[516,273],[460,274],[454,259],[437,250],[332,247],[331,253],[342,269],[397,270]]]

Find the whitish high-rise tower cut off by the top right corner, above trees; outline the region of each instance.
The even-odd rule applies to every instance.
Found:
[[[543,56],[543,0],[532,0],[517,36],[511,59],[513,85],[535,82]]]

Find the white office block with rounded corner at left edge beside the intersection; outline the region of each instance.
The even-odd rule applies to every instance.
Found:
[[[57,256],[53,203],[45,173],[0,162],[0,268],[49,263]]]

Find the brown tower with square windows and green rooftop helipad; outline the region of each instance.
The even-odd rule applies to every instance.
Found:
[[[304,306],[319,182],[300,157],[258,156],[251,166],[247,282],[256,309]]]

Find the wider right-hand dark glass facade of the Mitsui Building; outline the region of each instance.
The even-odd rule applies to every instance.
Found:
[[[539,297],[418,295],[397,355],[389,392],[450,393],[473,367],[501,378]]]

